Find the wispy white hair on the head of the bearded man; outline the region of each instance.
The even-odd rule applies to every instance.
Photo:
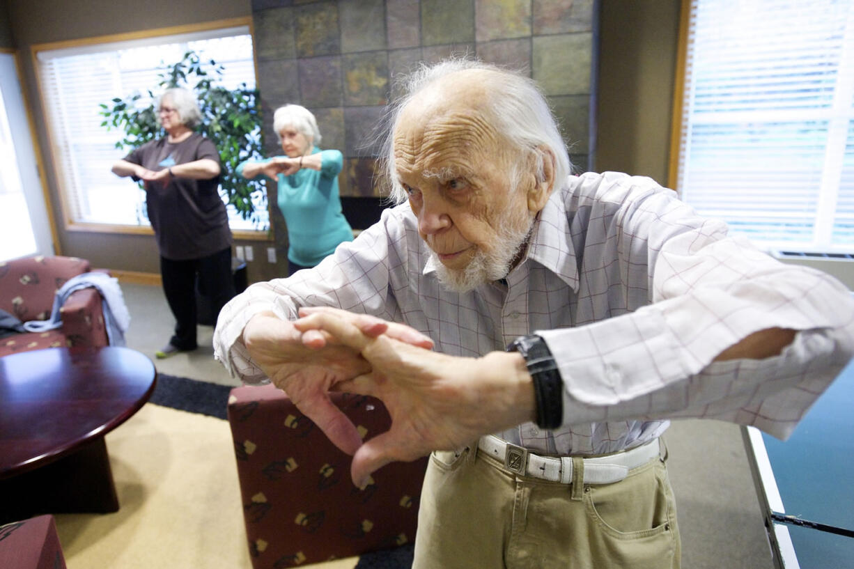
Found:
[[[452,73],[477,69],[497,73],[491,80],[492,88],[488,103],[484,106],[484,116],[494,126],[495,131],[505,139],[512,150],[521,155],[538,155],[537,179],[543,179],[542,161],[544,149],[554,156],[554,180],[561,183],[570,175],[570,157],[564,138],[560,135],[557,122],[549,109],[546,97],[536,83],[521,73],[466,58],[452,58],[429,66],[422,63],[417,71],[410,74],[404,82],[404,95],[393,105],[389,105],[389,130],[386,133],[383,155],[380,157],[382,169],[389,179],[391,200],[395,203],[407,201],[407,193],[401,187],[395,173],[394,132],[401,114],[412,99],[424,89],[434,85],[438,79]],[[519,168],[528,163],[515,161],[512,179],[513,186],[524,172]]]

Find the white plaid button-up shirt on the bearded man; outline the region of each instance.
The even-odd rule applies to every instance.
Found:
[[[824,273],[727,235],[652,179],[572,176],[506,279],[442,288],[404,204],[318,267],[252,285],[225,306],[216,357],[266,377],[240,337],[252,315],[326,305],[404,322],[436,351],[479,356],[539,333],[564,380],[564,425],[500,437],[544,454],[603,454],[658,437],[669,418],[723,419],[786,437],[854,350],[854,302]],[[713,362],[753,332],[798,331],[781,355]]]

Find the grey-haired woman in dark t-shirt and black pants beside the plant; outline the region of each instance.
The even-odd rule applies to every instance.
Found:
[[[161,277],[175,333],[165,358],[196,349],[196,278],[208,291],[213,314],[235,294],[231,278],[231,230],[219,197],[219,152],[193,132],[202,119],[196,98],[169,89],[158,103],[167,136],[143,144],[113,165],[113,173],[143,180],[146,208],[161,255]]]

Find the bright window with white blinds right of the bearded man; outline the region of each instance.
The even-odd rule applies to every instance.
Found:
[[[676,190],[767,250],[854,252],[854,0],[693,0]]]

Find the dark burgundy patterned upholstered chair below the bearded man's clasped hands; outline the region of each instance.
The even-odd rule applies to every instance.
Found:
[[[383,403],[333,394],[363,438],[386,431]],[[351,457],[272,385],[231,390],[228,419],[254,569],[317,563],[412,543],[427,459],[374,472],[365,490]]]

